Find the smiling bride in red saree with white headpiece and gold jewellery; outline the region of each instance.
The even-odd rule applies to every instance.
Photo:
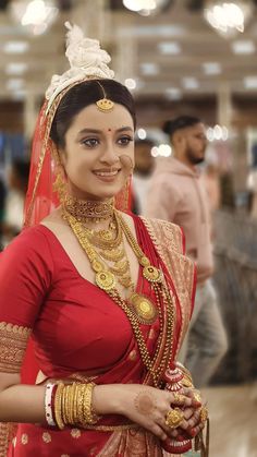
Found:
[[[159,457],[168,438],[178,455],[205,421],[186,372],[187,389],[163,389],[195,269],[179,227],[124,213],[133,99],[73,32],[39,115],[26,229],[0,257],[0,455]]]

